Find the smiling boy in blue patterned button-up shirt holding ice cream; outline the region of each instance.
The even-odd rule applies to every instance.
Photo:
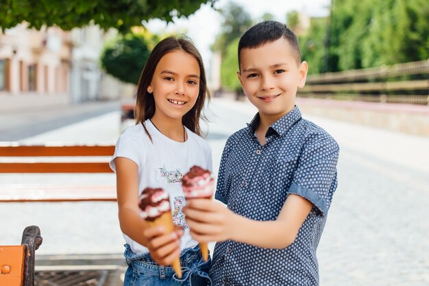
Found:
[[[213,285],[319,285],[316,249],[336,189],[339,147],[295,106],[306,81],[297,37],[275,21],[238,43],[238,79],[258,114],[228,139],[215,198],[192,200],[197,241],[218,241]]]

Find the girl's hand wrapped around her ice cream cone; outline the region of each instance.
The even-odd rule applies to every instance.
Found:
[[[143,235],[149,254],[159,265],[169,265],[180,257],[180,237],[183,235],[183,228],[180,226],[176,226],[175,231],[167,235],[164,234],[163,226],[153,226],[146,228]]]

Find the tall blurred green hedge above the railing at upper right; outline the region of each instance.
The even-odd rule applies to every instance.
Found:
[[[300,38],[310,73],[429,58],[429,1],[332,0],[330,19]]]

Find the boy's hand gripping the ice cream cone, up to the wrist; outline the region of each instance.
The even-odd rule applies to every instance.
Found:
[[[191,236],[198,242],[232,239],[236,215],[220,202],[192,199],[183,208]]]

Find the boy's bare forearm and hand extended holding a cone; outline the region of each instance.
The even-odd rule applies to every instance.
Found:
[[[295,241],[311,208],[311,202],[291,194],[274,221],[242,217],[213,200],[189,200],[184,213],[191,235],[199,242],[231,239],[260,248],[280,249]]]

